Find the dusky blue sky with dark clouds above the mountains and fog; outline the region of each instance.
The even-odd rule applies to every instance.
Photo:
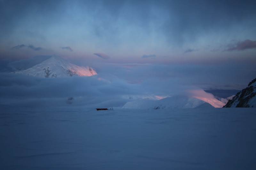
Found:
[[[255,5],[227,0],[2,0],[0,58],[55,54],[78,65],[89,63],[98,72],[106,71],[106,63],[120,68],[151,64],[161,73],[175,66],[185,75],[198,73],[200,82],[211,77],[222,86],[229,81],[242,88],[256,74]],[[230,70],[234,74],[222,75]]]

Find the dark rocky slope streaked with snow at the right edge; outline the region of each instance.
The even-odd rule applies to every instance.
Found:
[[[248,84],[248,87],[229,100],[224,107],[256,107],[256,78]]]

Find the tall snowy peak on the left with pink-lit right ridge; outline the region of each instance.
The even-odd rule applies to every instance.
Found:
[[[46,59],[27,70],[19,70],[13,73],[44,78],[92,76],[97,74],[97,72],[90,66],[80,67],[68,63],[57,55],[52,55],[49,59]]]

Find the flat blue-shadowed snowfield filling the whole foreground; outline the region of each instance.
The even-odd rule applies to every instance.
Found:
[[[256,108],[0,110],[1,169],[256,168]]]

